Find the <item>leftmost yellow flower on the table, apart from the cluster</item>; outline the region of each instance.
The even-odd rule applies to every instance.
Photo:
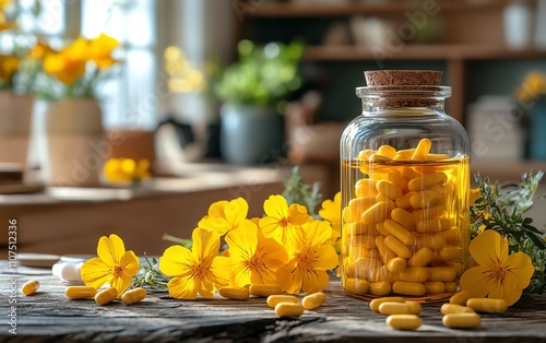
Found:
[[[109,284],[121,294],[131,285],[131,277],[140,270],[139,258],[131,250],[126,251],[123,240],[117,235],[103,236],[98,240],[97,258],[83,263],[82,280],[96,289]]]

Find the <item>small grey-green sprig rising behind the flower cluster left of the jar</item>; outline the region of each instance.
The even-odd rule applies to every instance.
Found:
[[[307,213],[317,215],[316,209],[322,202],[319,182],[314,182],[312,186],[305,184],[299,168],[295,166],[283,185],[283,197],[288,204],[299,203],[307,208]]]

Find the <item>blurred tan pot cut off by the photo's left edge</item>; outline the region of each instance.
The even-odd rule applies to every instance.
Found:
[[[34,96],[0,92],[0,162],[26,166]]]

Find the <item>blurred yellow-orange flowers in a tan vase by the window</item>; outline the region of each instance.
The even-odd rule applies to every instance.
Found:
[[[106,159],[103,115],[95,88],[118,61],[118,46],[100,34],[79,37],[44,60],[43,95],[46,113],[47,165],[45,179],[52,186],[96,187]]]

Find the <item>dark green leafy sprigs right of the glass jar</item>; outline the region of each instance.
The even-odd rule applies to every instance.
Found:
[[[489,178],[475,176],[480,198],[471,205],[471,239],[484,229],[494,229],[510,244],[510,253],[522,251],[529,255],[535,273],[526,295],[542,294],[546,289],[546,238],[533,225],[533,220],[524,212],[534,204],[535,192],[544,176],[543,172],[525,173],[520,185],[499,187],[490,184]]]

